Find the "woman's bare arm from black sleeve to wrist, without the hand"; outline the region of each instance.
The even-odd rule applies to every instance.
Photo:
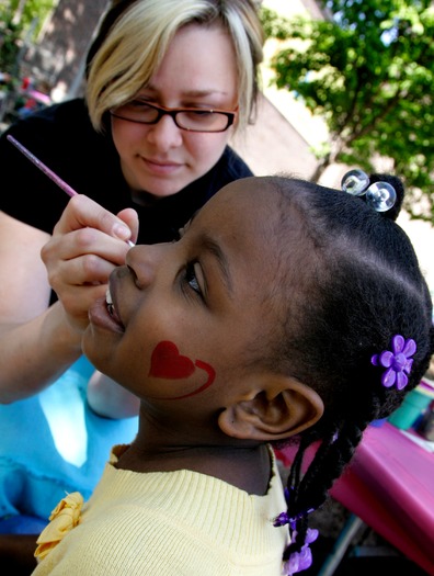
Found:
[[[48,308],[50,287],[39,256],[48,238],[0,213],[1,403],[38,392],[81,353],[81,335],[61,306]]]

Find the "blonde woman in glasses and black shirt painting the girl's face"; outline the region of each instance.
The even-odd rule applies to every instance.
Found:
[[[228,139],[252,117],[262,44],[249,0],[113,2],[89,52],[85,99],[2,135],[0,515],[31,517],[13,530],[45,523],[65,492],[88,497],[112,444],[134,438],[136,417],[111,417],[132,416],[136,400],[81,357],[88,308],[124,263],[125,239],[171,240],[218,189],[251,174]],[[113,236],[94,223],[83,258],[54,247],[49,282],[39,253],[68,196],[8,134],[119,218]],[[67,320],[71,303],[80,326]]]

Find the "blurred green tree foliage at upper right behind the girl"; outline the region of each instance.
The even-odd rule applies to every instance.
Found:
[[[327,123],[318,179],[332,162],[375,170],[393,162],[413,218],[434,224],[434,7],[431,0],[329,0],[330,18],[287,20],[262,8],[282,41],[272,69]]]

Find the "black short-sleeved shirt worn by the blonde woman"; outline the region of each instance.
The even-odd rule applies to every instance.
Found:
[[[123,177],[110,134],[96,133],[83,99],[46,108],[18,121],[0,137],[0,210],[52,234],[69,197],[9,140],[11,134],[80,194],[117,214],[134,207],[139,216],[139,244],[173,239],[190,217],[227,183],[252,176],[229,147],[205,176],[176,194],[140,206]]]

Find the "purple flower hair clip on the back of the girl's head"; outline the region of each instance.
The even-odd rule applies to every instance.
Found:
[[[406,340],[403,336],[397,334],[391,340],[392,351],[385,350],[379,354],[374,354],[370,362],[375,366],[386,368],[381,376],[381,384],[386,388],[390,388],[393,384],[398,389],[407,386],[413,359],[411,358],[416,351],[416,343],[409,338]]]

